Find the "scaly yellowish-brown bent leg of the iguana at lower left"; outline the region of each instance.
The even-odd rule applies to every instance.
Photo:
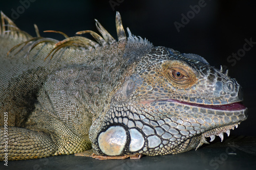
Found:
[[[0,127],[0,131],[1,161],[5,160],[6,153],[8,160],[20,160],[53,156],[57,150],[52,138],[44,132],[8,127],[8,136],[5,136],[4,127]]]

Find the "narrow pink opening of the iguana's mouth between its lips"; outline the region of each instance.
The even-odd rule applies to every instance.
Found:
[[[231,103],[231,104],[226,104],[226,105],[203,105],[203,104],[195,104],[195,103],[178,101],[178,100],[174,100],[174,99],[168,99],[166,101],[180,103],[182,105],[197,106],[200,108],[213,109],[213,110],[240,111],[240,110],[246,109],[246,107],[241,102]]]

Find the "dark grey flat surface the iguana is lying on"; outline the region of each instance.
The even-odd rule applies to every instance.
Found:
[[[226,138],[226,136],[225,136]],[[256,137],[215,139],[197,151],[138,160],[95,160],[74,155],[9,161],[8,169],[256,169]],[[1,162],[1,169],[7,169]]]

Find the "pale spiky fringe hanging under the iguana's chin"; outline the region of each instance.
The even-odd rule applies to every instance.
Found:
[[[233,124],[233,125],[228,125],[228,126],[223,126],[223,127],[219,127],[219,128],[214,128],[211,130],[208,130],[206,132],[203,132],[201,134],[201,139],[199,144],[196,147],[196,150],[201,147],[201,145],[203,143],[209,144],[209,142],[206,141],[205,138],[210,137],[210,142],[214,141],[216,135],[219,136],[221,138],[221,141],[223,141],[224,139],[224,133],[227,134],[227,136],[229,136],[230,134],[230,129],[234,130],[234,128],[238,128],[238,125],[240,125],[240,123],[237,124]]]

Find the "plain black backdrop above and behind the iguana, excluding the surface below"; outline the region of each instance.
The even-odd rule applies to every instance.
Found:
[[[196,8],[200,2],[204,2],[203,7],[197,13],[193,12],[191,6]],[[243,103],[249,108],[246,122],[231,134],[256,136],[256,44],[252,44],[254,46],[243,57],[230,57],[230,61],[227,60],[232,53],[241,52],[245,39],[256,42],[255,1],[20,0],[1,1],[0,10],[21,30],[36,36],[33,26],[36,23],[42,37],[58,40],[63,37],[42,31],[57,30],[68,36],[75,36],[77,31],[82,30],[97,32],[94,18],[117,38],[115,14],[119,11],[124,28],[129,27],[134,35],[146,37],[155,46],[198,54],[217,68],[225,65],[229,69],[229,76],[242,85]],[[191,17],[178,32],[174,22],[182,24],[182,14],[190,14]]]

